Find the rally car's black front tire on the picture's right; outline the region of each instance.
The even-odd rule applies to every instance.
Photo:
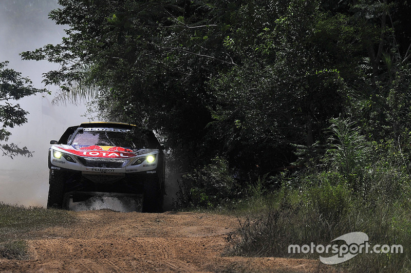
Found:
[[[158,179],[146,179],[143,192],[143,212],[160,213],[163,207],[163,193]]]

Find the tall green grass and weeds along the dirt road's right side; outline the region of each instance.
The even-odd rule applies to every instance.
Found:
[[[311,189],[314,193],[301,195],[297,191],[282,191],[265,201],[258,214],[241,217],[239,228],[227,238],[227,256],[292,257],[318,259],[320,254],[290,254],[289,245],[332,244],[335,238],[361,230],[372,242],[401,244],[403,253],[376,255],[359,254],[336,270],[349,272],[406,272],[410,266],[409,201],[378,202],[361,205],[362,198],[353,195],[345,186],[324,185]],[[279,198],[279,196],[281,198]],[[379,196],[377,194],[374,197]],[[321,199],[318,199],[321,198]],[[340,203],[339,201],[343,201]],[[294,204],[290,207],[289,204]],[[331,243],[330,243],[331,242]],[[321,255],[321,256],[325,256]]]

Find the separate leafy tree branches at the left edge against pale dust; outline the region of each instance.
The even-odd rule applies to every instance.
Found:
[[[7,142],[11,133],[7,127],[14,128],[27,122],[27,111],[20,107],[20,104],[14,101],[23,97],[30,96],[39,92],[46,92],[44,89],[33,88],[32,82],[27,77],[22,77],[20,72],[6,68],[8,61],[0,62],[0,141]],[[3,156],[13,158],[16,155],[32,156],[32,153],[26,147],[19,148],[17,145],[10,143],[1,143],[0,150]]]

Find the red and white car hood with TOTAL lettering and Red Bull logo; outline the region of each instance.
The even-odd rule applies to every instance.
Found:
[[[138,155],[148,154],[156,151],[155,149],[139,149],[136,151],[119,147],[119,146],[80,146],[80,145],[53,145],[53,147],[63,150],[73,155],[82,157],[98,157],[98,158],[118,158],[126,159]]]

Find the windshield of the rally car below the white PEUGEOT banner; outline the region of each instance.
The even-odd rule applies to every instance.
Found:
[[[148,146],[147,136],[138,131],[115,128],[84,128],[71,141],[74,146],[118,146],[142,149]]]

